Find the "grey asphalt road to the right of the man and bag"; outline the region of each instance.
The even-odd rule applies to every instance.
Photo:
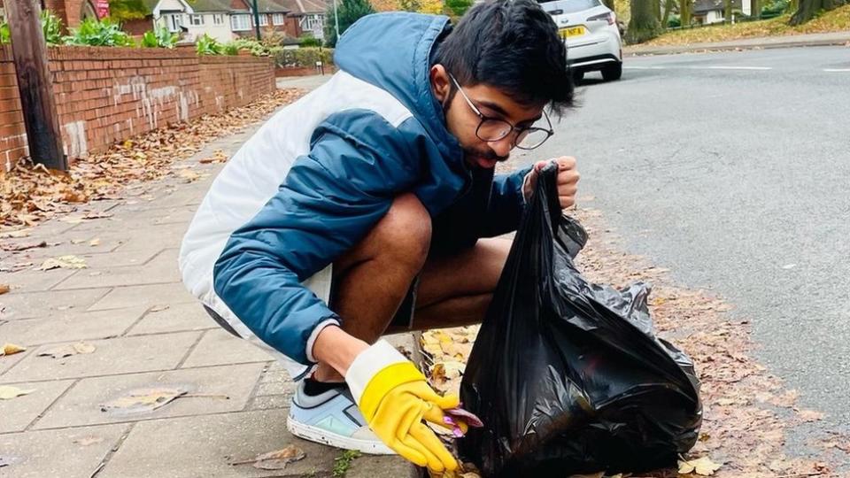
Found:
[[[624,65],[588,73],[539,156],[576,156],[629,251],[727,299],[815,428],[850,430],[850,48]]]

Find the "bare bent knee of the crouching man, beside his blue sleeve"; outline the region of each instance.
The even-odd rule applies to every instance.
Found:
[[[431,243],[428,210],[412,193],[396,197],[368,240],[379,256],[418,272],[428,258]]]

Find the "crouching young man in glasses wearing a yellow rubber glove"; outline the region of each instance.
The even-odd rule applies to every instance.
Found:
[[[483,319],[510,247],[486,238],[518,226],[545,162],[493,171],[572,105],[565,49],[535,2],[496,0],[453,30],[445,17],[360,19],[336,65],[213,182],[182,243],[183,281],[300,381],[294,435],[451,470],[422,420],[442,424],[457,397],[379,339]],[[567,207],[576,163],[555,160]]]

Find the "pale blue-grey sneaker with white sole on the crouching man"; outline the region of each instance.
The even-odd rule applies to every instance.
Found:
[[[310,397],[304,393],[304,382],[299,382],[286,428],[294,436],[344,450],[370,455],[396,454],[368,428],[347,387]]]

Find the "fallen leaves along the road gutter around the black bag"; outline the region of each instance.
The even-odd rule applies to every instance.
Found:
[[[652,476],[715,476],[767,478],[834,475],[831,453],[850,453],[850,439],[832,434],[818,443],[822,458],[800,459],[784,454],[786,433],[823,414],[800,410],[797,392],[785,389],[750,354],[746,320],[733,320],[730,305],[700,290],[677,287],[667,270],[644,258],[622,252],[598,211],[581,209],[571,215],[582,221],[591,240],[578,266],[591,281],[622,287],[634,281],[653,284],[650,308],[657,332],[686,351],[702,381],[704,421],[699,442],[680,462],[679,470],[659,470]],[[422,335],[430,381],[442,392],[457,393],[477,328],[432,330]],[[486,424],[485,424],[486,426]],[[719,469],[708,465],[721,464]],[[700,473],[702,472],[702,473]],[[474,476],[467,474],[465,476]]]

